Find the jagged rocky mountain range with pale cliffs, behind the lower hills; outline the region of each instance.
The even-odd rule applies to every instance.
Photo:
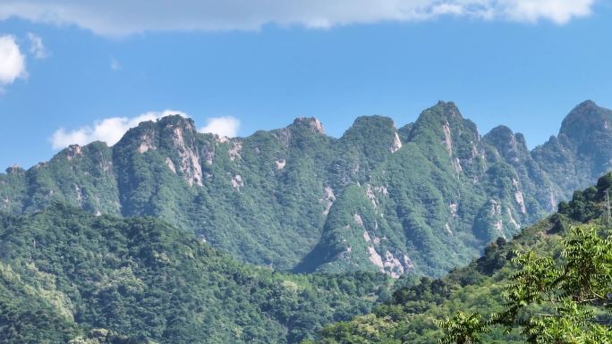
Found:
[[[60,200],[91,214],[152,215],[284,270],[438,276],[608,171],[610,123],[611,111],[584,102],[530,151],[506,127],[481,137],[444,102],[399,129],[360,117],[341,138],[316,119],[219,138],[169,116],[114,147],[71,146],[28,171],[9,168],[0,207],[24,214]]]

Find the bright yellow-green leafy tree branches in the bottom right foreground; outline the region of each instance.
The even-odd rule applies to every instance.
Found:
[[[582,225],[570,229],[556,256],[517,254],[521,270],[512,276],[503,298],[506,310],[483,320],[479,314],[458,313],[438,326],[442,343],[479,343],[493,326],[509,333],[521,328],[528,343],[612,343],[612,237],[604,228]]]

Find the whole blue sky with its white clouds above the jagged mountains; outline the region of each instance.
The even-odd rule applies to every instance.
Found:
[[[2,168],[169,109],[240,136],[313,116],[337,137],[452,100],[482,134],[506,124],[533,147],[583,100],[612,107],[604,1],[95,3],[0,4]]]

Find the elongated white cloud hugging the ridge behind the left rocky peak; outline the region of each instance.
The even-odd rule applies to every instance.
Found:
[[[76,130],[55,130],[49,141],[53,149],[62,149],[69,145],[87,145],[93,141],[104,141],[109,146],[115,145],[130,128],[136,127],[140,122],[156,121],[170,114],[180,114],[188,117],[186,113],[174,110],[164,112],[142,113],[136,117],[111,117],[94,122],[91,126],[81,127]]]

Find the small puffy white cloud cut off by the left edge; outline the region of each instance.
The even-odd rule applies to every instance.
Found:
[[[0,36],[0,89],[12,84],[18,78],[26,78],[25,56],[15,38],[10,35]]]

